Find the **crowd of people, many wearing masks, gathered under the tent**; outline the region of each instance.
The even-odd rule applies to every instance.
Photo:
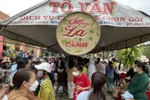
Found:
[[[135,100],[147,100],[149,63],[141,60],[129,70],[115,58],[19,54],[0,62],[0,100],[56,100],[60,94],[73,100],[106,100],[106,87],[116,100],[123,100],[125,92]]]

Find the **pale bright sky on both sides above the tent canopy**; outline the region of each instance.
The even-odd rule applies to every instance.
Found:
[[[44,0],[0,0],[0,10],[13,16],[27,8],[30,8]],[[116,0],[124,5],[144,11],[150,15],[150,0]],[[143,2],[144,1],[144,2]]]

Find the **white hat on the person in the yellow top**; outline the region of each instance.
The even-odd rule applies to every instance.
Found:
[[[51,70],[52,70],[52,66],[49,63],[46,63],[46,62],[43,62],[40,65],[35,65],[35,68],[37,70],[45,70],[49,73],[51,73]]]

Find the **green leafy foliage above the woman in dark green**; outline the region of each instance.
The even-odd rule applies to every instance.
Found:
[[[141,49],[138,46],[133,46],[131,48],[126,48],[118,51],[117,57],[119,63],[132,67],[135,60],[141,56]]]

